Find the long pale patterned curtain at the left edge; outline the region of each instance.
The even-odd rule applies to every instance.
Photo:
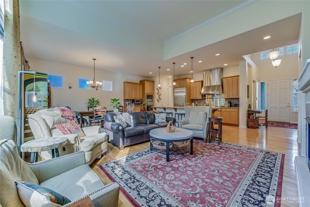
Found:
[[[21,70],[19,0],[4,1],[3,110],[17,119],[17,73]]]

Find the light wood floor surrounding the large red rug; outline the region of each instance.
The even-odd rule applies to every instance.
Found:
[[[274,151],[285,154],[283,184],[281,197],[297,197],[297,184],[294,169],[294,157],[298,154],[297,150],[297,130],[285,129],[276,127],[261,127],[259,129],[244,129],[234,126],[223,126],[223,141],[235,144],[256,147],[264,150]],[[108,153],[100,160],[97,159],[91,165],[91,168],[104,184],[109,184],[111,181],[97,167],[97,164],[113,160],[125,155],[129,155],[140,150],[149,148],[150,142],[144,142],[133,146],[125,147],[124,150],[119,150],[114,145],[108,145]],[[120,207],[132,206],[128,200],[120,193]],[[282,203],[281,207],[297,207],[295,203]]]

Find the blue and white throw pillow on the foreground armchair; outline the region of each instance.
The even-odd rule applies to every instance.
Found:
[[[60,207],[71,201],[43,186],[24,181],[15,181],[18,196],[26,207]]]

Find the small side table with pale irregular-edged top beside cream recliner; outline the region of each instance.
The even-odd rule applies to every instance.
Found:
[[[52,158],[59,157],[58,148],[67,143],[67,138],[38,138],[31,141],[27,141],[20,146],[21,152],[30,152],[30,163],[38,161],[39,152],[52,150]]]

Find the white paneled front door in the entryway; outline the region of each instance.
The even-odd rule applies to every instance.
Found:
[[[290,122],[290,79],[268,81],[268,120]]]

